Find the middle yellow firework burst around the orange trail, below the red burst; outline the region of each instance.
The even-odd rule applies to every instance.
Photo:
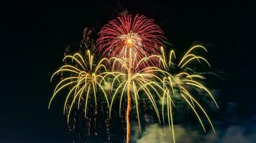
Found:
[[[129,53],[131,53],[132,49],[129,49]],[[136,53],[134,55],[137,55]],[[133,56],[130,56],[133,57]],[[155,70],[158,68],[156,66],[148,66],[143,69],[137,71],[137,68],[140,67],[140,64],[145,64],[148,62],[152,56],[142,58],[138,63],[136,60],[136,56],[134,58],[129,59],[120,59],[117,57],[113,57],[109,59],[110,64],[112,65],[112,70],[114,71],[115,77],[113,81],[111,81],[111,92],[113,95],[111,96],[110,102],[110,112],[113,106],[113,103],[117,96],[119,96],[119,115],[121,115],[122,102],[124,97],[127,97],[127,113],[126,119],[129,121],[129,112],[131,112],[131,107],[136,107],[137,112],[137,120],[140,128],[140,112],[139,112],[139,101],[140,97],[143,94],[149,99],[152,104],[155,113],[157,114],[157,118],[160,122],[160,112],[157,107],[157,100],[161,99],[161,90],[163,91],[163,87],[160,83],[163,83],[163,80],[160,77],[157,77],[155,74]],[[129,61],[127,61],[129,60]],[[115,66],[116,65],[116,66]],[[117,66],[118,65],[118,66]],[[118,69],[116,69],[116,67]],[[132,69],[134,67],[135,69]],[[119,72],[120,71],[120,72]],[[114,87],[114,85],[117,85]],[[133,103],[132,103],[133,102]],[[127,124],[127,130],[129,132],[129,122]],[[129,134],[127,134],[127,138],[129,138]]]

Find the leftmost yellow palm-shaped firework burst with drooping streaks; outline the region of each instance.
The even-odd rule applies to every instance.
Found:
[[[60,69],[52,74],[52,77],[50,79],[52,81],[52,78],[60,73],[63,73],[64,76],[67,75],[56,85],[55,90],[52,94],[52,98],[50,99],[48,108],[50,109],[52,100],[56,97],[56,95],[63,89],[68,88],[69,92],[65,97],[65,104],[63,107],[63,114],[65,114],[66,106],[67,104],[70,104],[70,107],[68,109],[68,122],[70,112],[73,109],[74,104],[77,102],[77,107],[79,109],[81,99],[83,99],[84,101],[85,117],[89,99],[94,100],[96,107],[96,93],[98,91],[103,93],[104,98],[106,99],[106,103],[109,107],[108,97],[106,95],[106,92],[104,91],[104,88],[100,84],[102,80],[104,80],[104,75],[109,74],[106,66],[103,64],[104,62],[107,62],[108,59],[101,59],[98,64],[94,64],[93,58],[94,56],[89,50],[86,52],[85,58],[78,53],[65,56],[63,61],[67,60],[68,64],[61,66]]]

